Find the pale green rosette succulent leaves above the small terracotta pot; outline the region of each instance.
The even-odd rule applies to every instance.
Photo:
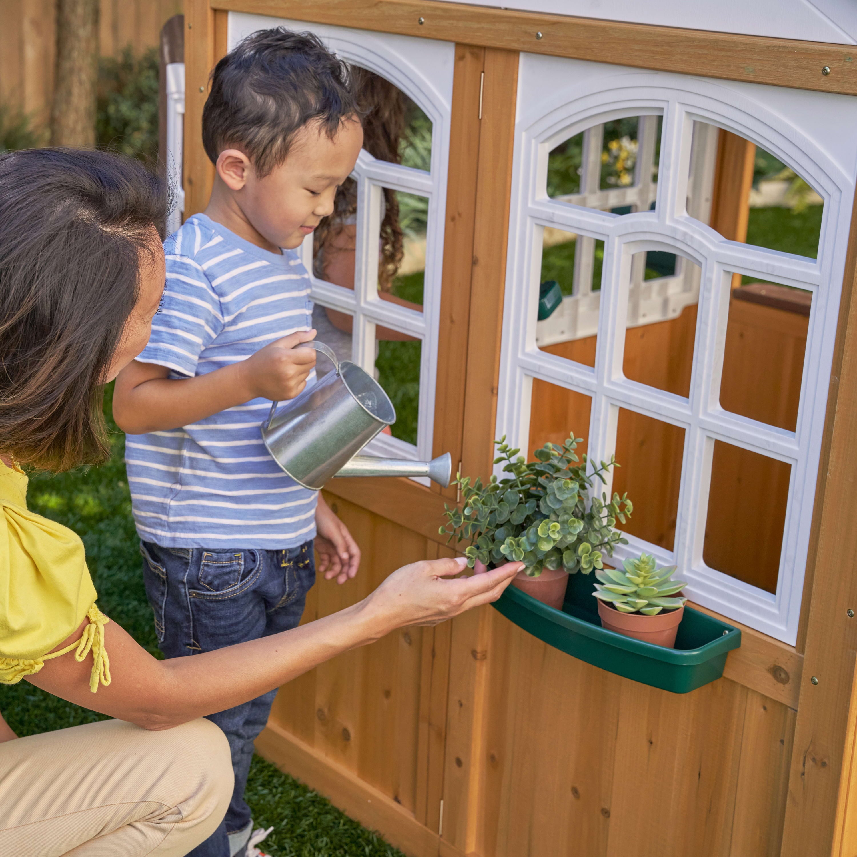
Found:
[[[596,571],[601,583],[592,593],[620,613],[656,616],[662,610],[677,610],[687,601],[685,596],[670,597],[687,585],[684,580],[672,579],[675,566],[657,568],[654,556],[640,554],[637,559],[625,560],[622,567],[624,572],[618,568]]]

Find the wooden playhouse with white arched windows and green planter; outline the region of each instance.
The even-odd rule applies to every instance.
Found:
[[[681,645],[605,657],[504,596],[293,681],[259,750],[418,857],[852,857],[854,4],[475,2],[186,0],[183,213],[244,35],[310,29],[380,79],[403,147],[361,155],[339,244],[304,248],[320,339],[403,415],[374,450],[472,476],[501,434],[614,452],[624,550],[680,566],[713,654],[671,683]],[[455,488],[327,496],[363,568],[308,619],[449,554]]]

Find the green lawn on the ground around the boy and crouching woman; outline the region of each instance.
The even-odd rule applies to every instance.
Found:
[[[110,412],[109,393],[105,410]],[[99,607],[159,656],[131,519],[124,437],[115,426],[113,430],[107,464],[59,476],[31,476],[28,505],[81,536],[99,592]],[[27,681],[0,686],[0,711],[21,736],[106,719]],[[250,770],[247,801],[259,826],[274,827],[264,843],[264,850],[273,857],[404,857],[381,836],[365,830],[321,795],[258,757]]]

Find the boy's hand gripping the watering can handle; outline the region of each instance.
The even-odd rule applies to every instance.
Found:
[[[250,393],[248,398],[281,401],[299,395],[307,386],[309,373],[315,369],[315,351],[295,346],[310,339],[315,339],[315,330],[291,333],[237,363]]]

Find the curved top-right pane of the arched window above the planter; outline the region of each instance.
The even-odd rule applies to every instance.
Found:
[[[822,198],[770,152],[707,123],[693,123],[687,213],[730,241],[818,255]]]

